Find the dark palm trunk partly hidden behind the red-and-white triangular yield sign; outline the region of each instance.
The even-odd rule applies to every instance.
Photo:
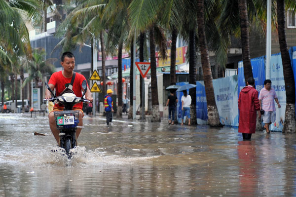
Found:
[[[140,43],[139,43],[139,60],[144,62],[144,42],[145,42],[145,33],[140,33]],[[145,88],[143,91],[143,83],[145,85],[145,79],[140,75],[140,119],[146,119],[146,114],[142,117],[142,108],[145,109]],[[144,98],[143,98],[144,97]],[[144,99],[144,103],[142,102]],[[145,111],[145,110],[144,110]]]

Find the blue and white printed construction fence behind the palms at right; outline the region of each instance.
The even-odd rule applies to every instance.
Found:
[[[294,79],[296,84],[296,46],[289,49],[291,64],[294,73]],[[261,56],[251,59],[253,77],[255,79],[256,89],[260,91],[263,88],[265,80],[265,59],[266,56]],[[272,81],[272,87],[278,96],[278,100],[281,104],[281,108],[277,108],[276,105],[276,121],[271,124],[271,130],[282,131],[283,123],[285,121],[286,110],[286,90],[283,73],[282,57],[280,53],[271,55],[271,73],[270,80]],[[185,82],[179,82],[177,85],[184,85]],[[240,90],[245,86],[244,68],[243,62],[238,64],[238,75],[230,76],[226,78],[213,80],[215,100],[218,107],[220,121],[223,125],[238,126],[238,95]],[[177,92],[178,104],[177,104],[177,117],[181,122],[181,97],[183,93]],[[196,82],[196,118],[198,124],[206,124],[208,120],[207,115],[207,101],[205,86],[203,81]]]

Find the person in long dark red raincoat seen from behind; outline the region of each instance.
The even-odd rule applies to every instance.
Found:
[[[238,98],[239,123],[238,132],[243,138],[250,140],[252,133],[256,131],[257,111],[260,110],[258,91],[255,89],[255,79],[249,78]]]

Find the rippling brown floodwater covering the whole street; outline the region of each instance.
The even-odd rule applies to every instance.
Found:
[[[46,116],[0,114],[0,197],[296,196],[296,135],[103,118],[68,160]]]

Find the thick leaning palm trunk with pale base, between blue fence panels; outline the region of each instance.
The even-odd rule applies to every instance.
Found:
[[[207,48],[207,40],[204,24],[204,1],[198,0],[197,2],[197,23],[198,23],[198,37],[199,48],[201,54],[201,65],[203,71],[203,78],[206,88],[207,96],[207,109],[208,109],[208,123],[210,126],[222,126],[220,123],[219,113],[215,101],[213,77],[211,72],[211,65],[209,59],[209,53]]]

